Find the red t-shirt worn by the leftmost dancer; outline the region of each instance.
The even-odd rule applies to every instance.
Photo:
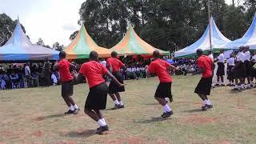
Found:
[[[58,62],[58,71],[62,82],[68,82],[74,79],[70,74],[70,62],[64,58]]]

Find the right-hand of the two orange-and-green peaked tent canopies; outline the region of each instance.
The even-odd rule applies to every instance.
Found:
[[[150,56],[153,54],[154,50],[158,50],[150,44],[138,37],[138,34],[135,33],[134,28],[129,26],[126,35],[122,38],[116,46],[110,50],[116,51],[119,55],[142,55]],[[162,55],[170,55],[170,52],[159,50]]]

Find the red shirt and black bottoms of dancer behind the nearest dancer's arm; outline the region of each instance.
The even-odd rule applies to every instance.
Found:
[[[122,77],[122,74],[120,73],[120,68],[125,65],[118,58],[108,58],[106,60],[106,65],[108,67],[112,66],[113,68],[112,74],[114,75],[115,78],[117,78],[118,82],[123,84],[123,77]],[[122,91],[125,91],[125,86],[118,86],[118,84],[116,84],[114,80],[111,80],[110,86],[109,86],[109,93],[116,94]]]

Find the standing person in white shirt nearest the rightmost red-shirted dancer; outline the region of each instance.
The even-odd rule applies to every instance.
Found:
[[[218,55],[218,58],[214,61],[214,62],[217,62],[218,64],[218,70],[217,70],[217,86],[221,85],[221,86],[225,86],[224,84],[224,75],[225,75],[225,65],[224,65],[224,62],[225,62],[225,58],[224,58],[224,53],[223,53],[223,50],[220,50],[220,53]],[[219,81],[219,78],[221,78],[221,81]]]

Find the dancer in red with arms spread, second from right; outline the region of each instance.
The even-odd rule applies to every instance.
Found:
[[[170,115],[173,114],[173,111],[166,101],[166,98],[169,98],[170,102],[172,101],[171,83],[173,79],[170,77],[169,70],[178,70],[178,68],[160,59],[158,50],[155,50],[153,55],[154,62],[151,62],[150,66],[146,66],[146,74],[156,74],[158,76],[160,83],[154,94],[154,98],[163,106],[164,113],[161,115],[162,118],[169,118]]]

